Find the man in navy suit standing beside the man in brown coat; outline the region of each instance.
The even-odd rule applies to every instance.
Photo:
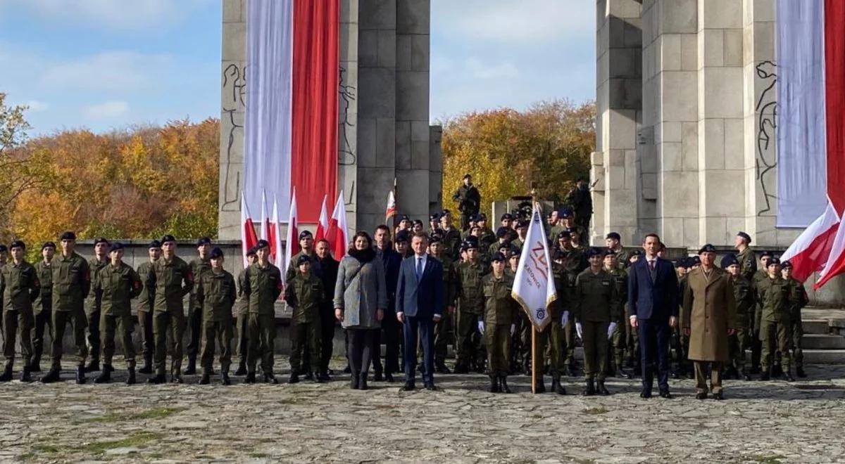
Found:
[[[661,248],[657,234],[646,235],[646,251],[631,265],[628,278],[630,325],[640,336],[643,398],[651,397],[654,364],[660,396],[669,398],[669,337],[678,320],[678,275],[672,262],[657,256]]]

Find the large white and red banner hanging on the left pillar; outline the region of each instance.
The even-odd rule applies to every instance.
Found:
[[[262,192],[289,215],[317,221],[320,199],[337,192],[339,0],[250,0],[243,195]],[[330,205],[331,206],[331,205]]]

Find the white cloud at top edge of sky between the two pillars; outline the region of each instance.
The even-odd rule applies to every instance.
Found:
[[[537,42],[594,32],[596,3],[586,0],[433,0],[441,33],[500,42]]]

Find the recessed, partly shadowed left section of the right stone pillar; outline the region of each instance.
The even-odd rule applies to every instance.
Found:
[[[641,5],[597,1],[596,152],[591,155],[590,242],[608,232],[631,243],[637,234],[636,133],[641,121]]]

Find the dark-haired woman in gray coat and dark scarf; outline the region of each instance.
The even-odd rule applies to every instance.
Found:
[[[376,349],[373,337],[381,329],[385,308],[384,265],[376,259],[370,236],[358,232],[341,260],[335,285],[335,317],[346,329],[353,390],[367,390],[369,364]]]

